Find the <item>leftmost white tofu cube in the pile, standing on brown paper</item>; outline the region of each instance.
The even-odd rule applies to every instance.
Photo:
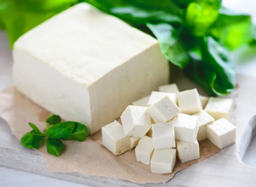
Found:
[[[124,135],[123,127],[116,120],[101,128],[102,144],[114,155],[120,155],[131,149],[130,137]]]

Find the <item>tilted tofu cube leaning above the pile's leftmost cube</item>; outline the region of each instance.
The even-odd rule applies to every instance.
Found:
[[[151,128],[147,107],[129,105],[120,116],[126,136],[144,137]]]

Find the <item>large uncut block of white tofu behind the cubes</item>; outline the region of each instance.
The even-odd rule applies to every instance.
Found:
[[[90,133],[169,79],[155,38],[86,3],[21,36],[13,59],[20,92]]]

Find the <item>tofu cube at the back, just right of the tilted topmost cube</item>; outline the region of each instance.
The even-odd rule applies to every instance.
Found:
[[[177,94],[177,100],[181,113],[191,115],[202,110],[202,103],[196,88],[179,92]]]

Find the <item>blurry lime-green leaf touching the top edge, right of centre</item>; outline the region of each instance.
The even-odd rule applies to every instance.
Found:
[[[221,0],[201,0],[192,2],[186,11],[186,21],[196,36],[204,36],[207,29],[219,15]]]

